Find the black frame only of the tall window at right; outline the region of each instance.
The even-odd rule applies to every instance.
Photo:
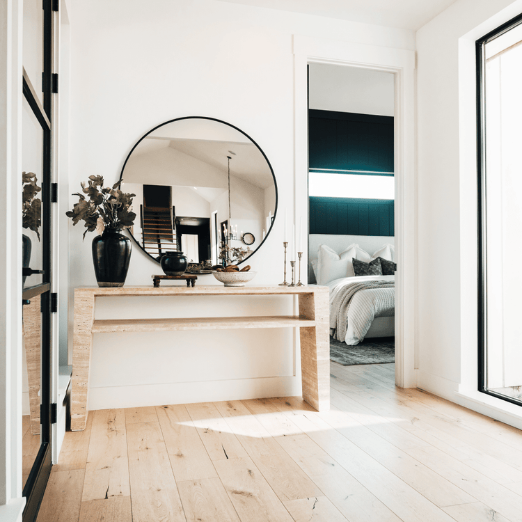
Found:
[[[522,14],[508,20],[475,41],[477,78],[477,258],[478,258],[478,390],[506,402],[522,406],[522,401],[487,388],[487,171],[485,45],[522,24]]]

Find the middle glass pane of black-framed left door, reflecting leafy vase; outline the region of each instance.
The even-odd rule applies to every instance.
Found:
[[[43,131],[25,98],[22,112],[22,266],[41,271]],[[39,283],[42,283],[42,274],[24,277],[24,287]]]

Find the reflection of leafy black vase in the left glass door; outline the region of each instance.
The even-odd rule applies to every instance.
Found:
[[[35,173],[22,172],[22,227],[36,232],[38,241],[40,241],[38,229],[42,225],[42,200],[36,195],[42,190],[42,187],[38,187],[36,182],[38,182],[38,178]],[[22,269],[29,269],[31,249],[31,239],[22,234]],[[22,286],[28,275],[22,276]]]

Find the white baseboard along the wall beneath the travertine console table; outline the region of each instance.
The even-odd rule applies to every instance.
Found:
[[[295,395],[301,395],[301,379],[294,376],[114,386],[90,388],[88,409],[137,408]]]

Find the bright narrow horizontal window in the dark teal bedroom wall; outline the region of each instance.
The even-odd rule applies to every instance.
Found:
[[[395,178],[310,172],[309,195],[328,198],[395,199]]]

